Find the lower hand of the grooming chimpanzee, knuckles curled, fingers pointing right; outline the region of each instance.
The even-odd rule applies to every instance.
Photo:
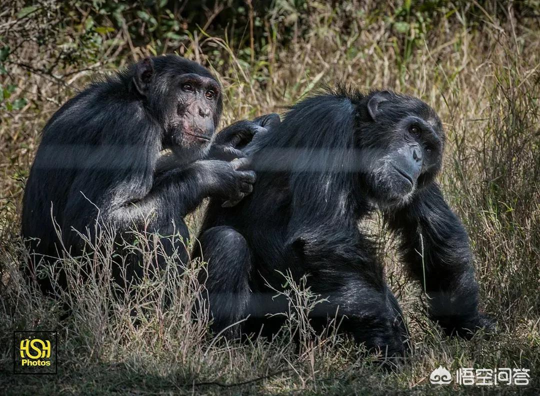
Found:
[[[253,191],[255,172],[246,170],[249,165],[247,158],[237,158],[231,162],[220,160],[205,160],[205,179],[209,183],[208,193],[225,199],[223,207],[238,204],[246,195]]]

